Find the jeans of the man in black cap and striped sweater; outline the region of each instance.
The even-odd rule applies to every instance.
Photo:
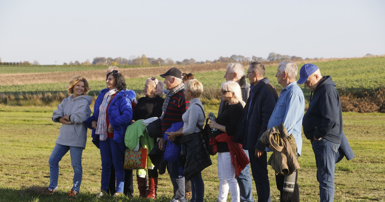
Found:
[[[172,198],[179,200],[180,202],[187,202],[186,192],[184,189],[184,176],[179,175],[178,162],[167,161],[167,171],[169,172],[172,186],[174,187],[174,196]]]

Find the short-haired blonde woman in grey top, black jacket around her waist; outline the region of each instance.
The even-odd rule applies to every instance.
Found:
[[[175,140],[176,136],[182,136],[182,152],[186,163],[184,164],[184,177],[191,181],[191,202],[203,202],[204,183],[201,171],[210,166],[211,159],[204,147],[201,130],[203,127],[204,110],[199,97],[203,92],[203,85],[196,79],[187,80],[184,84],[186,100],[189,100],[189,108],[182,115],[183,127],[176,132],[168,133],[169,140]],[[197,158],[198,157],[198,158]],[[197,160],[198,159],[198,162]]]

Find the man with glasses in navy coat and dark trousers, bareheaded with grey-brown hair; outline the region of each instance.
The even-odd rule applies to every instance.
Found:
[[[259,202],[270,201],[270,182],[267,170],[266,147],[258,140],[266,131],[278,94],[268,78],[264,78],[265,67],[259,61],[250,61],[246,76],[250,82],[250,96],[238,123],[234,142],[243,144],[249,152],[251,171]]]

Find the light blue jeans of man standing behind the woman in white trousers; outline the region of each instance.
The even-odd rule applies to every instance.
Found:
[[[244,153],[249,158],[249,152],[244,150]],[[239,198],[241,202],[254,202],[253,199],[253,181],[251,181],[250,176],[250,166],[249,164],[239,173],[237,177],[238,186],[239,186]]]

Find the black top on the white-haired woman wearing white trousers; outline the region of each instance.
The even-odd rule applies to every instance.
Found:
[[[225,105],[223,113],[217,117],[216,122],[220,125],[226,126],[226,133],[229,136],[235,135],[237,131],[237,124],[242,116],[242,104],[236,103],[234,105]],[[214,131],[214,136],[222,134],[223,131]],[[229,146],[226,142],[217,142],[218,152],[228,152]]]

